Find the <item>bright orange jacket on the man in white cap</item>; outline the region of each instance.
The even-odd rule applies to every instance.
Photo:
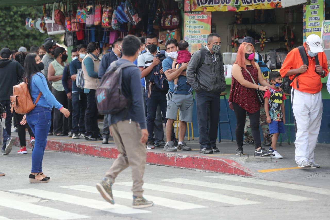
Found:
[[[304,43],[305,51],[306,51],[306,43]],[[306,52],[307,54],[307,52]],[[320,52],[318,55],[318,61],[320,65],[322,66],[322,69],[325,71],[325,76],[328,75],[328,64],[327,64],[327,57],[325,56],[324,52]],[[302,73],[301,75],[297,76],[293,82],[290,84],[293,89],[299,90],[301,92],[308,92],[311,94],[320,92],[322,89],[322,83],[321,83],[321,76],[318,75],[315,72],[315,58],[308,57],[308,68],[305,73]],[[294,48],[291,50],[288,55],[286,56],[282,67],[281,67],[281,76],[284,77],[285,74],[291,70],[291,69],[298,69],[304,65],[303,60],[300,56],[298,48]],[[295,75],[289,76],[289,79],[292,80]],[[299,89],[297,88],[297,79],[298,79],[298,85]]]

